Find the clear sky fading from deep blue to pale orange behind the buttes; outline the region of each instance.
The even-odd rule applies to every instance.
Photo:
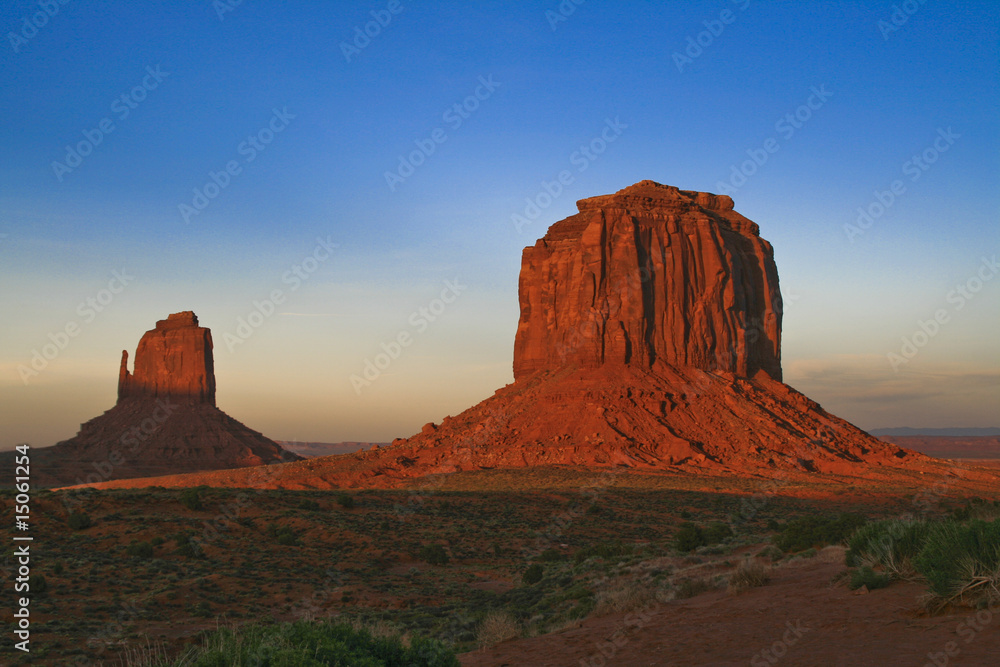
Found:
[[[252,428],[411,435],[512,381],[521,249],[647,178],[759,223],[789,384],[998,425],[1000,5],[577,1],[4,3],[0,447],[180,310]]]

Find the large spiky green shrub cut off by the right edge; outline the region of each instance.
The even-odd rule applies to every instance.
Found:
[[[938,597],[1000,600],[1000,519],[932,524],[914,564]]]

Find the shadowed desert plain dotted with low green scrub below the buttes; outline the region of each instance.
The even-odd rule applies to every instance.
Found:
[[[752,595],[783,562],[848,540],[848,581],[859,586],[912,576],[949,596],[962,591],[969,604],[995,586],[992,503],[956,509],[953,532],[931,539],[932,521],[874,520],[858,530],[863,517],[912,510],[908,497],[866,505],[774,495],[748,512],[746,494],[757,488],[748,483],[744,494],[609,487],[593,502],[580,492],[593,476],[565,474],[564,486],[542,493],[92,491],[73,496],[71,515],[66,492],[40,493],[33,529],[45,554],[32,581],[44,577],[50,592],[32,601],[32,638],[48,654],[28,657],[159,666],[187,655],[197,660],[186,665],[229,665],[211,647],[263,642],[274,659],[261,664],[300,664],[281,652],[297,650],[285,646],[290,637],[316,660],[325,642],[354,645],[315,621],[325,618],[391,627],[370,634],[402,638],[404,648],[425,641],[406,637],[427,637],[462,653],[726,588]],[[195,498],[201,509],[192,509]],[[128,663],[129,652],[158,657]],[[3,649],[0,662],[31,664]]]

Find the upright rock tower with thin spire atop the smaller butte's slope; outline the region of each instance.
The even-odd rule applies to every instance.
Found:
[[[128,371],[128,350],[122,350],[118,401],[135,397],[215,405],[212,332],[198,326],[197,315],[174,313],[147,331],[135,351],[134,373]]]

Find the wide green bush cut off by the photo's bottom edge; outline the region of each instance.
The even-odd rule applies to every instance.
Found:
[[[439,641],[414,636],[377,637],[366,629],[332,621],[251,625],[208,633],[202,646],[174,667],[296,665],[296,667],[459,667],[454,651]]]

